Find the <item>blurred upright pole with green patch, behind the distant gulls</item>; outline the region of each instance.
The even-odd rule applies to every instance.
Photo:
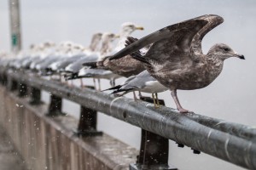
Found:
[[[11,33],[11,50],[15,53],[21,49],[21,33],[20,33],[20,1],[9,0],[9,18]]]

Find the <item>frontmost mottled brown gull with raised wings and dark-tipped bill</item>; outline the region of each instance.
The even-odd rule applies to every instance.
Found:
[[[221,73],[224,59],[245,59],[224,43],[213,45],[207,54],[202,53],[202,38],[223,22],[224,19],[218,15],[206,14],[166,26],[132,43],[109,59],[119,59],[153,43],[147,54],[137,59],[143,62],[152,77],[171,90],[177,110],[187,113],[189,111],[183,109],[177,98],[177,89],[205,88]]]

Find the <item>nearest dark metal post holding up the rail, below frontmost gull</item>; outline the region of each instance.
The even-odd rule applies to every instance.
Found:
[[[148,97],[142,97],[141,99],[154,103],[154,100]],[[160,105],[165,105],[164,100],[160,99]],[[177,170],[176,167],[168,165],[168,156],[168,139],[142,129],[140,153],[137,156],[137,163],[130,165],[130,170]]]

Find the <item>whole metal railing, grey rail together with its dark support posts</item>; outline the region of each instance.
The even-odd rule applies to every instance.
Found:
[[[79,122],[78,133],[80,134],[101,134],[96,131],[96,111],[141,127],[143,129],[141,147],[144,149],[140,150],[137,164],[131,165],[131,169],[139,167],[177,169],[168,167],[167,164],[168,142],[166,141],[168,139],[176,141],[179,146],[191,147],[195,153],[202,151],[238,166],[256,169],[255,127],[225,122],[195,113],[180,114],[165,106],[156,109],[148,102],[134,101],[125,97],[114,98],[90,88],[71,88],[61,82],[46,81],[41,77],[14,71],[0,71],[0,76],[2,83],[8,85],[10,90],[16,89],[17,87],[14,88],[14,86],[21,84],[20,96],[27,94],[27,87],[31,87],[32,103],[35,104],[40,103],[38,101],[40,90],[49,92],[50,105],[54,105],[49,105],[50,116],[54,116],[54,112],[61,112],[62,98],[81,105],[84,108],[81,111],[84,113],[81,114]],[[56,106],[56,103],[59,104]],[[154,153],[147,150],[150,144],[156,147]]]

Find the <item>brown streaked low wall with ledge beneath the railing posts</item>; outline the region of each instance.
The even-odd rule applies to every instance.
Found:
[[[79,138],[71,116],[45,116],[47,105],[29,105],[0,87],[0,123],[29,169],[126,169],[137,150],[107,134]]]

